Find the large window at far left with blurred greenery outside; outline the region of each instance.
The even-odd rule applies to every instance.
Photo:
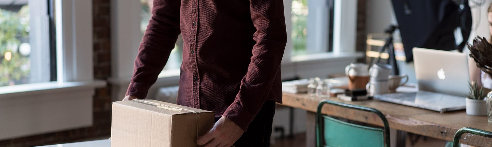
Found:
[[[50,3],[0,0],[0,86],[56,80]]]

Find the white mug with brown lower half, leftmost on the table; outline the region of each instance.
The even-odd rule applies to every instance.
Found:
[[[364,89],[369,82],[369,66],[364,63],[351,63],[345,67],[348,77],[348,89]]]

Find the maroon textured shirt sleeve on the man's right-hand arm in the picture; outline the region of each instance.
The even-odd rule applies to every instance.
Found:
[[[280,72],[287,35],[282,0],[250,0],[250,13],[256,32],[247,73],[234,102],[222,116],[247,130],[268,98],[277,72]]]

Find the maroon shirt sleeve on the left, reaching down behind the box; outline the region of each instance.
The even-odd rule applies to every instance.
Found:
[[[181,0],[154,0],[152,17],[138,49],[126,96],[147,97],[180,34],[180,6]]]

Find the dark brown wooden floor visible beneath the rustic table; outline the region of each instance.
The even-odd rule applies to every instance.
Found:
[[[406,141],[406,147],[444,147],[446,141],[435,138],[420,138],[413,146],[410,139]],[[285,137],[284,139],[275,139],[271,147],[306,147],[306,134],[296,134],[293,138]]]

